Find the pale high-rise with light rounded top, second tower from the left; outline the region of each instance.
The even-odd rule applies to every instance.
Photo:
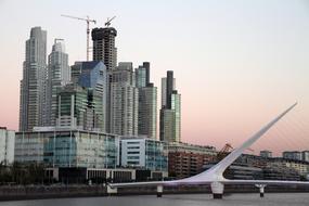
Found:
[[[55,126],[57,91],[69,81],[70,67],[68,66],[68,55],[65,53],[64,42],[61,39],[55,39],[52,52],[49,55],[46,126]]]

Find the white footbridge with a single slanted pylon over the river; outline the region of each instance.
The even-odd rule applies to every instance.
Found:
[[[252,184],[259,188],[260,196],[263,196],[265,186],[267,185],[305,185],[309,186],[307,181],[281,181],[281,180],[230,180],[223,177],[224,170],[232,165],[232,163],[239,158],[245,150],[250,147],[257,140],[259,140],[273,125],[275,125],[283,116],[292,111],[297,103],[289,106],[286,111],[262,127],[248,140],[246,140],[241,146],[232,151],[227,157],[220,160],[217,165],[210,169],[198,173],[196,176],[184,178],[180,180],[171,181],[153,181],[153,182],[130,182],[130,183],[111,183],[107,185],[107,193],[116,194],[118,188],[131,188],[131,186],[156,186],[157,196],[163,195],[164,186],[179,186],[179,185],[203,185],[209,184],[214,198],[222,198],[224,185],[227,184]]]

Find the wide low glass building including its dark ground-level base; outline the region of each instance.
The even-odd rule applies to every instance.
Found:
[[[15,162],[42,164],[46,178],[64,183],[134,181],[136,169],[120,168],[118,155],[115,134],[55,127],[16,132]]]

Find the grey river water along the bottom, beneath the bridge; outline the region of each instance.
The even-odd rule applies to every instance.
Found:
[[[309,206],[309,193],[232,194],[213,199],[210,194],[112,196],[0,202],[0,206]]]

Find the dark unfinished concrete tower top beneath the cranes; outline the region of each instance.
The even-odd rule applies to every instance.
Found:
[[[93,28],[93,61],[103,61],[107,70],[115,69],[117,65],[117,48],[115,37],[117,30],[113,27]]]

